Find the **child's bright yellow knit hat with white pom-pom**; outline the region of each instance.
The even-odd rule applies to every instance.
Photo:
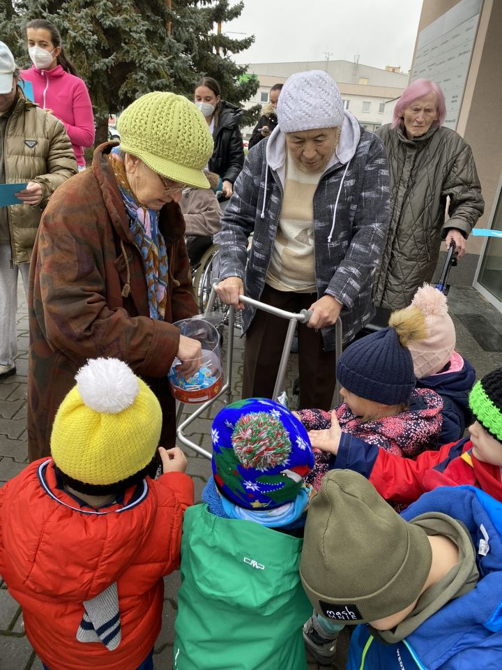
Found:
[[[70,482],[91,489],[124,482],[149,466],[162,427],[151,389],[114,358],[89,360],[75,380],[52,426],[56,467]]]

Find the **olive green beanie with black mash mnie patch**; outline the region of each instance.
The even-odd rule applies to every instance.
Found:
[[[300,575],[317,613],[345,623],[391,616],[418,598],[432,564],[408,523],[351,470],[331,470],[310,503]]]

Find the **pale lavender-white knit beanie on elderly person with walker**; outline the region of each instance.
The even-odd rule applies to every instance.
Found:
[[[277,102],[277,121],[283,133],[342,126],[344,109],[335,81],[323,70],[291,75]]]

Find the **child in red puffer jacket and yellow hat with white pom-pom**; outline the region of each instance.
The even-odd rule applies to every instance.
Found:
[[[0,490],[0,574],[45,669],[151,670],[192,480],[178,448],[148,476],[162,411],[125,363],[94,359],[75,379],[52,458]]]

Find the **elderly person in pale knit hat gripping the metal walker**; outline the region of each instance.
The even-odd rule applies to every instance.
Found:
[[[218,295],[241,308],[238,296],[247,295],[312,311],[308,325],[298,325],[299,407],[327,410],[337,318],[348,343],[374,314],[389,214],[386,151],[344,110],[321,70],[289,77],[277,121],[248,154],[225,210]],[[287,320],[245,306],[243,398],[271,397],[286,330]]]

